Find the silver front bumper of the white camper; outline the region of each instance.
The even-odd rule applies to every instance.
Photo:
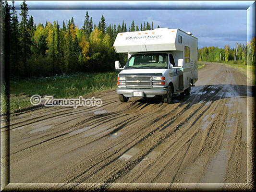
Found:
[[[167,88],[148,88],[148,89],[135,89],[135,88],[117,88],[116,93],[122,94],[123,96],[132,97],[134,91],[143,92],[144,97],[154,97],[157,95],[166,95]]]

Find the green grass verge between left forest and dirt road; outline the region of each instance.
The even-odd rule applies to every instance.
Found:
[[[115,89],[118,73],[76,73],[45,78],[11,80],[10,111],[32,107],[30,97],[33,95],[78,98],[90,93]],[[1,92],[1,113],[6,111],[6,98],[4,93]]]

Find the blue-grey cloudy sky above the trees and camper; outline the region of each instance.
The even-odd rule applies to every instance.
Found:
[[[63,2],[63,1],[62,1]],[[67,3],[67,1],[65,1]],[[15,1],[17,15],[20,20],[20,4],[22,1]],[[35,1],[26,1],[28,8],[33,7]],[[50,2],[48,2],[49,4]],[[61,3],[61,2],[57,2]],[[9,2],[11,4],[11,2]],[[168,27],[179,28],[185,32],[191,32],[198,38],[198,48],[202,47],[219,47],[224,48],[225,45],[235,47],[236,42],[246,44],[246,27],[247,13],[244,10],[46,10],[48,7],[40,6],[37,10],[28,11],[29,16],[33,16],[35,24],[45,24],[46,21],[53,23],[58,21],[62,26],[62,22],[74,18],[74,23],[81,28],[84,24],[85,13],[88,11],[92,17],[93,23],[98,25],[100,17],[104,15],[106,23],[122,24],[126,23],[127,29],[134,20],[135,25],[144,23],[144,21],[152,24],[154,28]],[[72,7],[71,7],[72,8]],[[185,7],[187,9],[188,7]]]

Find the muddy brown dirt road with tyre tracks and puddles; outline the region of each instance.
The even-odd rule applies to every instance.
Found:
[[[246,84],[244,74],[206,64],[191,96],[170,105],[121,103],[112,90],[93,95],[100,108],[12,113],[10,182],[246,183],[255,105]]]

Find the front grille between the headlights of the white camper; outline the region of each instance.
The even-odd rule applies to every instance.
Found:
[[[152,77],[141,77],[141,76],[126,76],[126,87],[134,88],[151,88],[152,87]]]

